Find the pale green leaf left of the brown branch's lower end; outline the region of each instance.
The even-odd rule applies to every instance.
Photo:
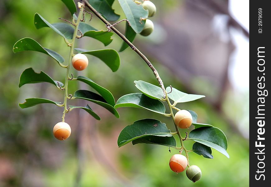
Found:
[[[147,83],[143,80],[134,81],[135,87],[142,93],[152,99],[162,99],[164,96],[163,90],[153,84]]]

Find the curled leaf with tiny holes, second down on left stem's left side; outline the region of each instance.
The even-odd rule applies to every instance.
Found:
[[[64,62],[64,58],[61,55],[59,55],[57,52],[53,50],[43,48],[38,42],[36,42],[32,38],[22,38],[21,40],[17,41],[13,46],[14,53],[26,50],[38,51],[46,55],[49,55],[52,58],[54,58],[58,63]]]

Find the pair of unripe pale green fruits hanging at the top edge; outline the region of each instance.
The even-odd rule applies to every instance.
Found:
[[[144,9],[149,11],[148,17],[153,17],[156,13],[156,7],[155,4],[153,4],[153,2],[149,1],[149,0],[145,0],[142,3],[142,6]],[[149,36],[154,30],[154,24],[151,20],[146,19],[145,22],[145,26],[143,28],[143,30],[140,32],[140,35],[142,36]]]

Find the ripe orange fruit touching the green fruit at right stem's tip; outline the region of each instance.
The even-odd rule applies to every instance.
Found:
[[[170,169],[177,174],[184,171],[187,164],[187,158],[181,154],[175,154],[169,160]]]

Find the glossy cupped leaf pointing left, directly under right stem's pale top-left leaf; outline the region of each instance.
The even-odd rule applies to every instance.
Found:
[[[122,96],[117,100],[115,105],[115,108],[120,107],[143,108],[163,115],[166,111],[166,108],[161,101],[149,98],[143,93],[130,93]]]

